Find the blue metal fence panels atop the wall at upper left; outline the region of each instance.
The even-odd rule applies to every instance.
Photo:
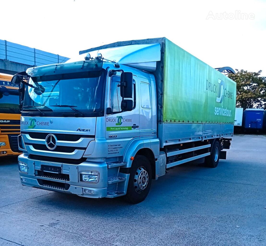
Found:
[[[69,58],[0,39],[0,59],[40,66],[65,62]]]

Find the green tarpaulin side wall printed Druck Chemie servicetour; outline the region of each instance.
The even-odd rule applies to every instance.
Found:
[[[165,39],[163,121],[234,123],[236,83]]]

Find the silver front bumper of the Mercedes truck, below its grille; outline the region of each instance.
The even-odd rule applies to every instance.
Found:
[[[21,154],[18,160],[28,165],[28,174],[19,173],[22,185],[63,192],[68,194],[76,194],[89,198],[102,198],[107,196],[107,164],[104,161],[85,161],[81,164],[65,164],[59,162],[47,162],[30,159],[28,154]],[[65,174],[67,179],[53,177],[46,173],[40,174],[41,166],[56,166],[61,167],[62,174]],[[99,182],[97,184],[80,182],[80,171],[98,171]],[[89,190],[90,193],[86,193]]]

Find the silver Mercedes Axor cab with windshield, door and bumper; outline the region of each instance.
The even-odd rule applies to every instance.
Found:
[[[87,64],[84,75],[81,68]],[[76,71],[53,75],[63,66]],[[159,155],[154,76],[100,60],[47,65],[27,73],[32,77],[19,137],[22,184],[94,198],[126,194],[128,169],[138,151],[147,149],[153,159]],[[121,82],[121,77],[130,81]],[[145,186],[152,177],[144,167],[142,171]]]

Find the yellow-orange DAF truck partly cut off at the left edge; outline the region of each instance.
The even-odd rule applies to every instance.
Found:
[[[11,84],[11,78],[12,75],[0,73],[0,158],[21,154],[18,149],[19,86]]]

